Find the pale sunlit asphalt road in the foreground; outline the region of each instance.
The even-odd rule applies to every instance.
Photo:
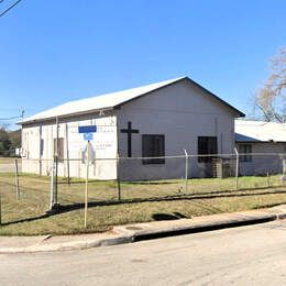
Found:
[[[0,285],[286,285],[286,221],[85,251],[0,255]]]

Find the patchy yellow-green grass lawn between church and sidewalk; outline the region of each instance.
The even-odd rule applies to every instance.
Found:
[[[280,176],[271,176],[268,182],[266,177],[241,177],[238,191],[233,178],[190,179],[187,194],[183,180],[122,183],[120,202],[116,182],[90,182],[88,228],[85,229],[84,180],[74,179],[68,186],[59,178],[62,211],[53,216],[45,215],[50,205],[50,178],[22,174],[19,180],[21,199],[16,200],[14,175],[0,173],[0,235],[98,232],[158,217],[191,218],[286,204]]]

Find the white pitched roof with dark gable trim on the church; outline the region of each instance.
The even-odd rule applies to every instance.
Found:
[[[212,92],[210,92],[209,90],[207,90],[206,88],[197,84],[196,81],[191,80],[188,77],[179,77],[179,78],[160,81],[160,82],[155,82],[142,87],[125,89],[125,90],[116,91],[111,94],[99,95],[96,97],[85,98],[75,101],[69,101],[58,107],[45,110],[43,112],[36,113],[35,116],[26,118],[23,120],[23,123],[44,121],[48,119],[55,119],[56,117],[69,117],[74,114],[85,114],[92,111],[113,109],[133,99],[136,99],[141,96],[147,95],[152,91],[173,85],[180,80],[189,80],[197,87],[204,89],[210,96],[215,97],[221,103],[230,108],[232,111],[234,111],[238,114],[238,117],[244,117],[244,113],[242,113],[240,110],[230,106],[228,102],[223,101],[222,99],[220,99],[219,97],[217,97],[216,95],[213,95]]]

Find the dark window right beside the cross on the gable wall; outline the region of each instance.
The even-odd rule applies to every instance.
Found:
[[[142,157],[165,156],[164,135],[142,135]],[[165,158],[146,158],[143,164],[165,164]]]

